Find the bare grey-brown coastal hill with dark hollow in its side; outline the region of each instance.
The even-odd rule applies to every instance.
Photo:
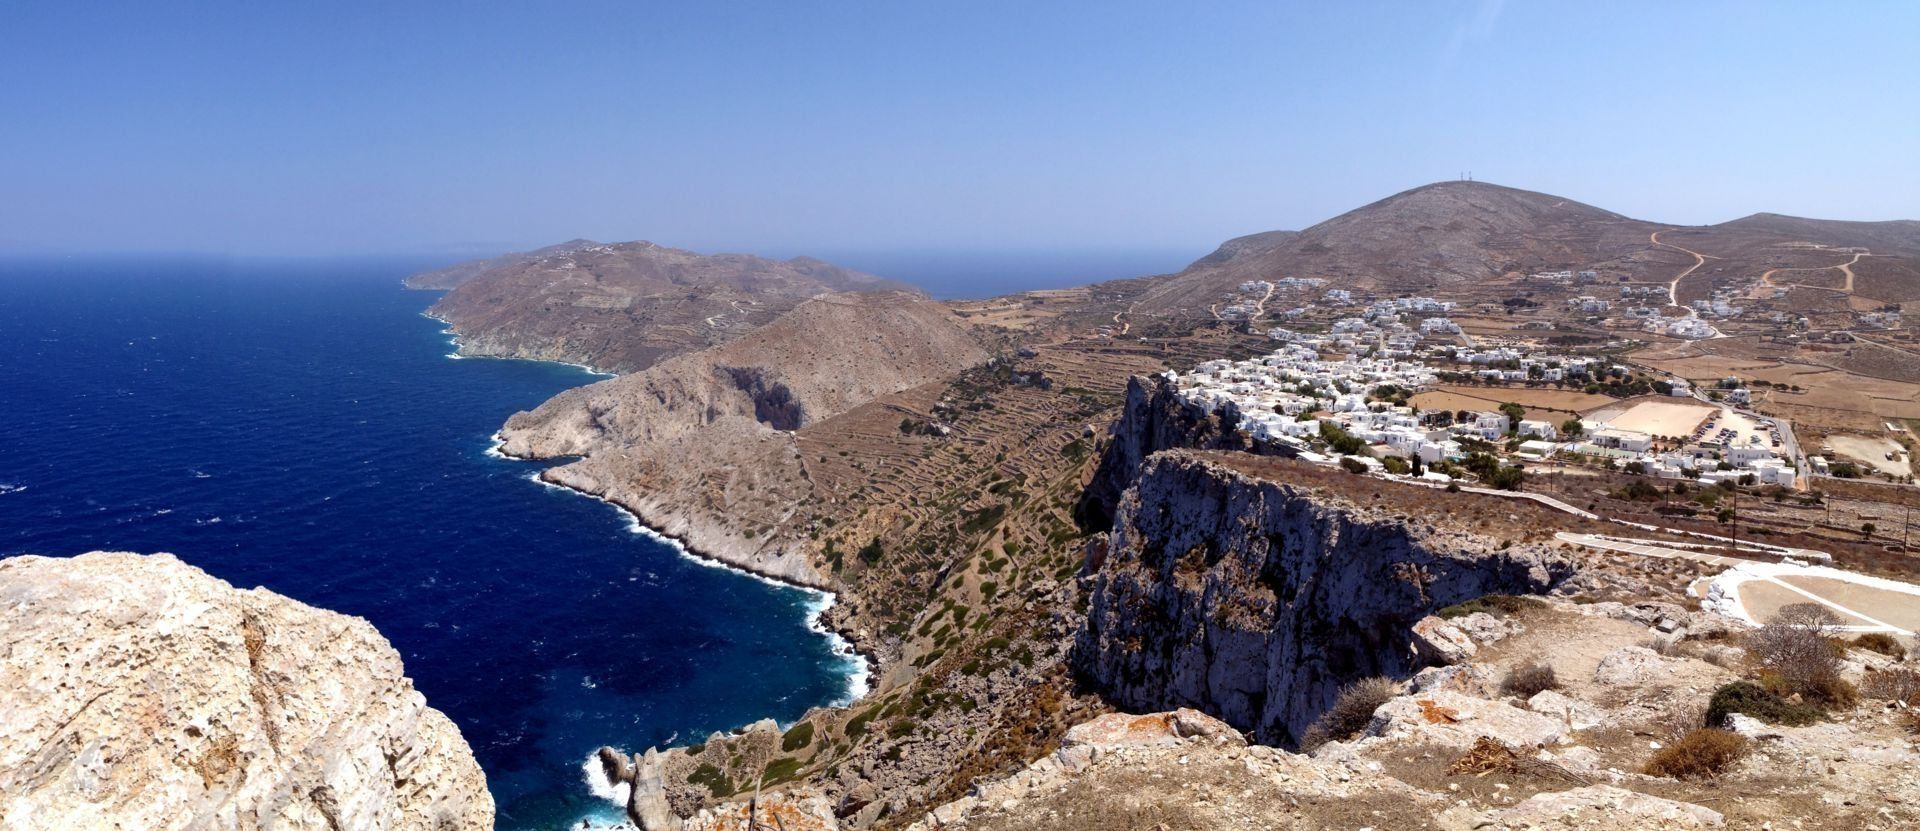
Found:
[[[516,457],[582,457],[549,480],[603,495],[697,551],[820,583],[795,432],[987,361],[972,328],[908,292],[814,297],[726,345],[568,390],[501,430]]]

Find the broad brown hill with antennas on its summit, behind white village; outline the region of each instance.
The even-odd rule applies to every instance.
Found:
[[[1655,240],[1653,234],[1659,234]],[[1436,182],[1388,196],[1300,232],[1221,244],[1179,274],[1152,278],[1135,311],[1210,319],[1244,280],[1319,276],[1336,288],[1486,299],[1538,271],[1594,269],[1609,278],[1667,282],[1682,301],[1776,269],[1834,271],[1828,282],[1864,301],[1920,299],[1920,223],[1845,223],[1755,213],[1678,226],[1622,217],[1580,202],[1488,182]],[[1862,253],[1864,251],[1864,253]],[[1860,257],[1853,257],[1860,253]],[[1843,280],[1849,265],[1857,282]],[[1496,288],[1498,292],[1498,288]],[[1480,294],[1480,297],[1475,297]]]

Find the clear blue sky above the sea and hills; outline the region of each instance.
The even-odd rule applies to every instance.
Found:
[[[0,251],[1198,255],[1469,169],[1920,219],[1920,4],[1325,6],[15,0]]]

